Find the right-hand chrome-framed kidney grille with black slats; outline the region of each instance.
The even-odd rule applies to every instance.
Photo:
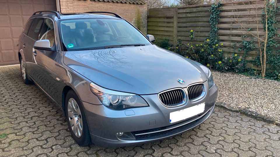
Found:
[[[188,97],[190,101],[197,101],[205,94],[205,85],[203,83],[191,85],[188,87]]]

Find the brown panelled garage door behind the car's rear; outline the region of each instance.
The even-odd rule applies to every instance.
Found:
[[[0,65],[18,62],[18,37],[36,11],[56,10],[55,0],[0,0]]]

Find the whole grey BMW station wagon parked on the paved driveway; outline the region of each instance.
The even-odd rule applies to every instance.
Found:
[[[80,146],[142,144],[179,135],[213,112],[210,70],[157,47],[115,13],[34,13],[19,38],[24,83],[65,114]]]

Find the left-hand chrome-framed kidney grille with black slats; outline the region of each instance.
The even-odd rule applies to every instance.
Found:
[[[158,94],[160,102],[167,107],[176,107],[185,104],[185,91],[183,89],[173,89]]]

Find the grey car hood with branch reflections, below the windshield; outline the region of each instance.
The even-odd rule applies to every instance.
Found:
[[[67,51],[63,60],[101,87],[136,94],[156,94],[207,80],[203,65],[155,45]]]

